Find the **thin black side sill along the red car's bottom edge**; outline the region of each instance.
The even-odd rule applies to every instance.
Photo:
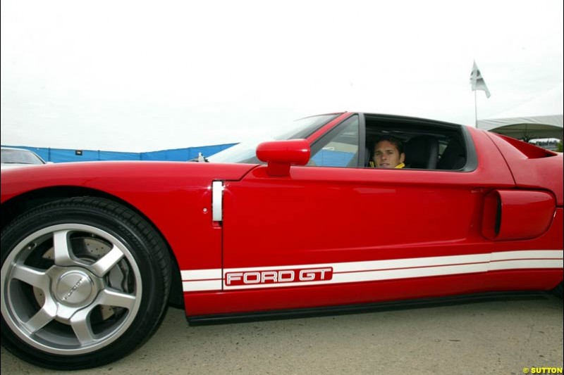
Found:
[[[393,311],[463,305],[467,303],[496,302],[503,300],[546,300],[546,291],[487,292],[466,295],[453,295],[441,298],[422,298],[362,305],[343,305],[330,307],[303,308],[296,310],[273,310],[264,312],[245,312],[239,314],[214,314],[186,317],[190,326],[211,324],[259,322],[265,320],[296,319],[305,317],[324,317],[329,315],[360,314],[366,312]]]

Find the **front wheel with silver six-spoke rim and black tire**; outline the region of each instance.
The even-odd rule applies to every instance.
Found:
[[[32,209],[1,233],[1,343],[51,369],[118,360],[161,323],[170,263],[159,234],[114,201]]]

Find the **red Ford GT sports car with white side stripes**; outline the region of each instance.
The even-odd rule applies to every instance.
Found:
[[[382,144],[398,167],[372,167]],[[207,161],[3,170],[2,345],[82,369],[137,348],[171,303],[205,322],[562,295],[562,154],[446,122],[334,113]]]

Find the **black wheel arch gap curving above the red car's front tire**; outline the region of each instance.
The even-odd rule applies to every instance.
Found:
[[[159,228],[152,222],[152,220],[145,215],[144,212],[135,208],[135,206],[131,205],[127,201],[114,196],[110,193],[106,193],[105,191],[100,191],[97,189],[90,189],[85,188],[82,186],[55,186],[49,187],[44,189],[37,189],[34,191],[27,191],[19,196],[15,196],[8,201],[5,201],[1,204],[1,212],[0,215],[1,219],[1,228],[4,229],[6,225],[12,222],[16,217],[18,217],[23,212],[30,210],[32,208],[38,207],[39,205],[43,205],[45,203],[59,201],[65,198],[73,198],[78,196],[91,196],[91,197],[98,197],[98,198],[106,198],[125,207],[133,210],[137,215],[143,217],[147,223],[161,236],[162,241],[166,244],[166,248],[168,249],[168,256],[171,259],[172,265],[172,280],[171,280],[171,293],[170,297],[168,298],[168,303],[173,305],[173,307],[184,308],[184,296],[183,296],[183,288],[182,288],[182,279],[180,277],[180,267],[178,266],[178,260],[176,259],[176,255],[174,254],[170,244],[166,240],[166,237],[161,233]]]

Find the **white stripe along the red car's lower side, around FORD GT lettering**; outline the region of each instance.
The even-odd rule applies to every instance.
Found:
[[[281,271],[285,269],[333,269],[333,277],[324,281],[298,281],[273,284],[226,285],[221,269],[182,271],[183,291],[219,291],[277,288],[319,284],[343,284],[413,277],[431,277],[450,274],[470,274],[507,269],[563,268],[563,250],[522,250],[491,254],[453,255],[444,257],[374,260],[367,262],[322,263],[315,265],[284,265],[271,267],[231,268],[232,272]]]

